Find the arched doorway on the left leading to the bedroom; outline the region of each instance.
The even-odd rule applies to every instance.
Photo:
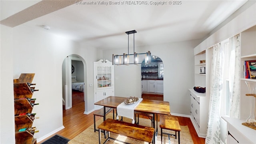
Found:
[[[83,92],[84,104],[87,105],[86,80],[85,60],[76,54],[67,56],[62,63],[62,103],[64,109],[72,108],[72,89]],[[72,88],[72,84],[76,88]]]

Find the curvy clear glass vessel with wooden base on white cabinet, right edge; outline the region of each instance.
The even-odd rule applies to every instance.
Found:
[[[248,124],[250,128],[253,128],[256,130],[256,82],[245,82],[249,94],[246,94],[246,96],[250,96],[250,116],[246,119],[246,124]],[[246,124],[242,123],[243,125],[247,126]]]

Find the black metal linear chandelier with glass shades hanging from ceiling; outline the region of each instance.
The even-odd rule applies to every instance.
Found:
[[[150,64],[151,63],[151,53],[150,51],[146,53],[136,53],[134,51],[134,34],[137,33],[136,30],[131,30],[125,32],[128,34],[128,54],[123,53],[122,55],[112,54],[112,64],[113,65],[129,65],[129,64]],[[129,54],[129,34],[133,34],[133,54]],[[142,60],[145,58],[145,61]],[[140,60],[142,62],[140,62]]]

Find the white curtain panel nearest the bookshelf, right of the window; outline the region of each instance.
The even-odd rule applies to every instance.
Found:
[[[230,90],[232,90],[232,100],[230,108],[231,118],[240,118],[240,64],[241,64],[241,48],[240,34],[229,39],[229,46],[234,54],[230,56]]]

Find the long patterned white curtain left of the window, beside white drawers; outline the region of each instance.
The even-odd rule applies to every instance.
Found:
[[[210,72],[210,102],[209,102],[209,121],[206,133],[206,144],[220,143],[220,95],[222,85],[220,67],[220,44],[216,44],[212,49],[212,64]]]

